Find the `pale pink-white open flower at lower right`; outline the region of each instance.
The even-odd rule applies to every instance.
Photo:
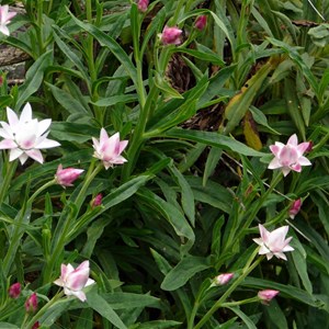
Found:
[[[288,231],[288,226],[282,226],[273,231],[268,231],[260,224],[259,231],[261,237],[253,239],[253,241],[261,246],[259,249],[259,254],[265,254],[268,260],[270,260],[273,256],[275,256],[277,259],[281,258],[286,260],[284,252],[294,250],[294,248],[288,245],[292,240],[292,237],[287,239],[285,238]]]

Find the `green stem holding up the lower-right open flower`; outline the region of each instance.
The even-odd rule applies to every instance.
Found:
[[[241,276],[239,276],[229,287],[228,290],[223,294],[223,296],[212,306],[212,308],[203,316],[203,318],[196,324],[196,326],[194,327],[194,329],[201,329],[203,328],[204,324],[206,324],[209,318],[213,316],[213,314],[223,306],[224,302],[226,300],[226,298],[238,287],[238,285],[246,279],[246,276],[252,271],[254,270],[259,263],[263,260],[263,256],[260,257],[259,259],[257,259],[252,264],[252,260],[254,259],[254,257],[257,256],[259,251],[259,248],[257,248],[253,253],[250,256],[247,264],[245,265],[243,270],[242,270],[242,274]]]

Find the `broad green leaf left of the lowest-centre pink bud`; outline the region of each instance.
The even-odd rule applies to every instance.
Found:
[[[209,266],[209,259],[188,256],[166,275],[161,283],[161,288],[164,291],[175,291],[183,286],[193,275]]]

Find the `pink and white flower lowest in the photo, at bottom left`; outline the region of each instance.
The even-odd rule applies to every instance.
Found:
[[[64,287],[64,293],[67,296],[76,296],[81,302],[87,299],[82,288],[94,283],[93,280],[89,279],[90,269],[89,261],[82,262],[77,269],[71,264],[61,264],[60,276],[55,284]]]

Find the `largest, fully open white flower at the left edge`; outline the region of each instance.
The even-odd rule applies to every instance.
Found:
[[[0,149],[9,149],[9,161],[20,159],[21,163],[32,158],[35,161],[43,163],[44,159],[41,152],[43,148],[52,148],[60,144],[47,139],[49,132],[46,132],[50,126],[52,120],[46,118],[38,122],[32,118],[32,109],[30,103],[24,106],[21,116],[10,107],[7,107],[8,122],[0,122],[0,136],[4,139],[0,141]]]

